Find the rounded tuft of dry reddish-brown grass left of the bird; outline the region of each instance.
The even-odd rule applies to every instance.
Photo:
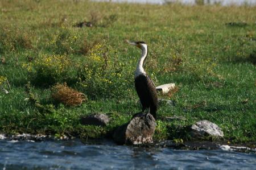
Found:
[[[77,92],[69,88],[67,84],[56,84],[52,88],[52,97],[58,102],[67,106],[79,106],[83,101],[86,101],[84,93]]]

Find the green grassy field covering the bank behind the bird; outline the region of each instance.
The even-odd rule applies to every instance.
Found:
[[[0,82],[10,92],[0,93],[1,132],[100,138],[129,121],[141,110],[133,85],[141,52],[129,39],[147,42],[146,71],[156,85],[177,85],[159,95],[176,106],[163,103],[158,117],[185,119],[159,119],[155,140],[188,140],[180,131],[207,119],[225,140],[256,141],[255,7],[28,0],[0,7]],[[93,27],[74,27],[82,21]],[[88,101],[55,102],[57,82]],[[80,125],[82,115],[94,112],[108,114],[110,124]]]

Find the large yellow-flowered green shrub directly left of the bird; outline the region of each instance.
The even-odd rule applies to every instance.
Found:
[[[97,43],[79,70],[78,84],[91,97],[125,97],[133,88],[133,78],[126,75],[133,74],[123,67],[115,49],[106,41]]]

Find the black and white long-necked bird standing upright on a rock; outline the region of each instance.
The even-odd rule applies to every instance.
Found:
[[[152,82],[143,68],[144,60],[147,57],[147,44],[144,42],[128,41],[127,43],[135,45],[142,50],[141,59],[138,61],[134,75],[135,88],[142,104],[142,112],[148,109],[148,113],[150,113],[156,119],[156,110],[158,109],[158,96],[156,93],[156,88],[154,82]]]

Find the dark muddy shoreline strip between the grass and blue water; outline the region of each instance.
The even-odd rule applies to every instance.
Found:
[[[80,140],[83,144],[94,145],[94,144],[114,144],[115,143],[111,138],[77,138],[77,137],[68,137],[60,136],[57,138],[52,135],[32,135],[32,134],[17,134],[17,135],[6,135],[0,134],[0,140],[7,140],[11,143],[16,142],[46,142],[46,141],[59,141],[59,140]],[[162,140],[154,143],[148,144],[138,144],[131,145],[133,147],[160,147],[160,148],[172,148],[175,150],[224,150],[224,151],[237,151],[237,152],[254,152],[256,153],[256,142],[245,142],[245,143],[229,143],[225,140],[190,140],[185,142],[175,142],[174,140]]]

